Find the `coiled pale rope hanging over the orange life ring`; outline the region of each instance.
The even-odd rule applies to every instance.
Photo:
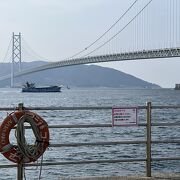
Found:
[[[33,130],[33,133],[36,137],[36,141],[34,145],[29,145],[25,138],[25,126],[24,123],[27,122],[31,125],[31,128]],[[28,115],[22,116],[18,123],[16,128],[16,138],[17,138],[17,145],[18,150],[23,155],[23,159],[37,159],[37,155],[39,155],[39,151],[43,150],[43,143],[40,136],[39,129],[37,128],[36,123],[34,122],[33,118],[31,118]]]

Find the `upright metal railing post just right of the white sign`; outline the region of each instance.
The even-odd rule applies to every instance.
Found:
[[[146,125],[146,176],[151,177],[151,102],[147,102]]]

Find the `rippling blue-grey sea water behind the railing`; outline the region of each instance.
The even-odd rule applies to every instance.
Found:
[[[30,106],[145,106],[180,105],[180,91],[172,89],[112,89],[112,88],[71,88],[61,93],[21,93],[20,89],[0,89],[1,107],[17,107],[23,103]],[[10,112],[0,112],[0,123]],[[109,124],[111,110],[63,110],[36,111],[49,125],[65,124]],[[138,123],[146,122],[146,111],[138,110]],[[180,123],[180,109],[152,109],[152,122]],[[27,132],[30,133],[30,132]],[[31,134],[32,135],[32,134]],[[142,126],[109,128],[50,129],[50,143],[80,143],[145,140],[146,129]],[[27,137],[28,140],[29,137]],[[32,140],[29,138],[28,142]],[[180,126],[152,127],[152,140],[180,140]],[[11,143],[16,143],[14,132]],[[43,162],[116,160],[125,158],[145,158],[145,144],[106,145],[80,147],[50,147],[43,156]],[[180,157],[180,144],[153,144],[152,157]],[[39,160],[40,162],[40,160]],[[0,164],[12,164],[0,155]],[[41,179],[61,179],[89,176],[145,175],[145,162],[123,162],[109,164],[56,165],[43,166]],[[0,179],[16,179],[16,168],[0,169]],[[25,168],[26,179],[35,180],[40,169]],[[152,174],[180,173],[180,161],[154,161]]]

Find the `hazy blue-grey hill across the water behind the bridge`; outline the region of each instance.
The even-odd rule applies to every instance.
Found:
[[[32,68],[46,63],[43,61],[22,63],[22,68]],[[10,73],[10,68],[9,63],[0,63],[0,76]],[[68,85],[70,87],[160,88],[156,84],[132,75],[97,65],[76,65],[41,71],[16,78],[15,84],[22,85],[26,81],[37,85]],[[9,86],[9,84],[10,80],[6,80],[0,83],[0,87]]]

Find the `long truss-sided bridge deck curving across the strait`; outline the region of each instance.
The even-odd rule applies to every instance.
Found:
[[[90,64],[99,62],[112,62],[112,61],[127,61],[127,60],[142,60],[142,59],[156,59],[156,58],[173,58],[180,57],[180,47],[167,48],[167,49],[152,49],[134,52],[125,52],[118,54],[106,54],[98,56],[88,56],[75,58],[70,60],[62,60],[57,62],[48,63],[46,65],[38,66],[31,69],[22,70],[21,72],[14,73],[14,77],[20,77],[23,75],[44,71],[48,69],[54,69],[65,66]],[[10,79],[11,75],[0,77],[0,80]]]

